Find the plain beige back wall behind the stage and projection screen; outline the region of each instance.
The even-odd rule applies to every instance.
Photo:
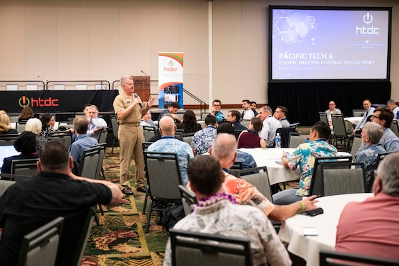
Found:
[[[184,88],[205,102],[218,98],[241,104],[248,98],[267,103],[269,5],[393,6],[392,97],[399,101],[395,0],[1,0],[0,80],[112,83],[121,75],[142,75],[141,70],[158,79],[158,52],[184,52]],[[157,92],[153,82],[152,93]],[[197,104],[184,97],[185,104]]]

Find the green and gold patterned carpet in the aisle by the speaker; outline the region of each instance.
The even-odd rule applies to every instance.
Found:
[[[119,182],[119,147],[113,154],[106,149],[103,165],[106,180]],[[101,226],[93,225],[81,265],[162,265],[168,235],[154,223],[154,215],[149,233],[144,233],[149,203],[142,214],[145,194],[136,192],[134,180],[131,188],[134,196],[124,196],[122,205],[114,208],[103,206],[104,216],[97,208]]]

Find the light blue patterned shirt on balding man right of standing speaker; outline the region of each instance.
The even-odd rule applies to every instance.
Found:
[[[174,136],[162,136],[162,138],[152,143],[148,149],[149,152],[172,152],[177,153],[179,159],[181,181],[187,185],[187,166],[190,160],[194,159],[193,150],[188,143],[175,139]]]

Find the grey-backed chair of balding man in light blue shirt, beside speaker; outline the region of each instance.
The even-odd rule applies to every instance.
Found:
[[[147,216],[145,233],[149,230],[149,220],[154,210],[165,212],[168,205],[181,201],[179,185],[182,185],[179,159],[176,153],[144,152],[145,175],[151,203]],[[157,201],[157,204],[153,203]]]

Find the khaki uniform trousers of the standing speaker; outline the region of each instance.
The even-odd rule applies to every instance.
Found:
[[[129,184],[129,167],[134,155],[136,164],[136,188],[144,185],[144,155],[142,154],[142,130],[140,123],[119,125],[117,138],[120,143],[120,184],[126,187]]]

